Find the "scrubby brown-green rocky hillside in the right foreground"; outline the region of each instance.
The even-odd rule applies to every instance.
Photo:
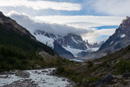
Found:
[[[77,87],[129,87],[130,46],[83,64],[60,66],[57,74],[74,80]]]

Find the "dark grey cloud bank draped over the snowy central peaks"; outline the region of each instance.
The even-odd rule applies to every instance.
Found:
[[[54,33],[56,35],[67,35],[69,33],[82,35],[89,32],[93,32],[92,30],[77,29],[74,27],[68,27],[66,25],[34,22],[26,14],[19,14],[15,11],[12,11],[7,15],[13,18],[14,20],[16,20],[19,24],[21,24],[26,29],[28,29],[32,34],[35,30],[44,30],[45,32]]]

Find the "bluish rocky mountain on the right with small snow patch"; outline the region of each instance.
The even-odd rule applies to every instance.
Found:
[[[116,29],[115,33],[102,44],[100,49],[93,55],[94,58],[105,56],[130,45],[130,17],[126,17]]]

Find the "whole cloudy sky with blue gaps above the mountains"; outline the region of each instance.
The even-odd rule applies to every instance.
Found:
[[[75,33],[90,43],[112,35],[129,8],[130,0],[0,0],[0,11],[30,32]]]

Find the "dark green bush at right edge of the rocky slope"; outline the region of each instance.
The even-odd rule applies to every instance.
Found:
[[[118,72],[118,74],[130,72],[130,61],[120,60],[119,63],[116,64],[116,71]]]

